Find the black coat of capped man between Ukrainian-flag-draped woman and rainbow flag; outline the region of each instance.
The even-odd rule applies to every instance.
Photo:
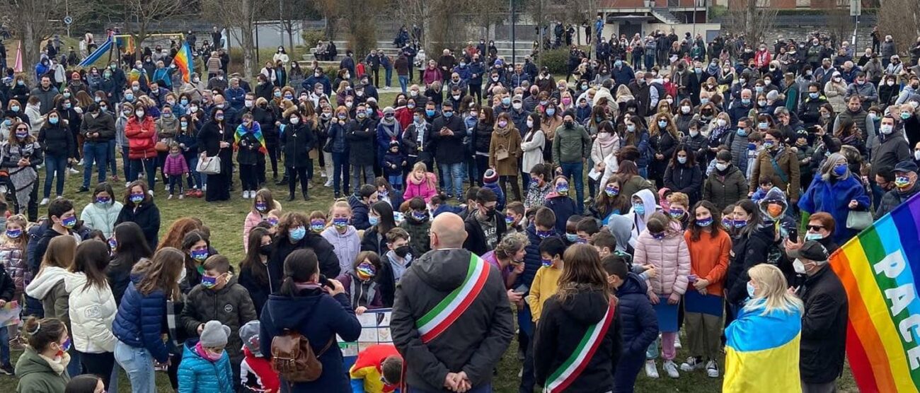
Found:
[[[840,278],[829,266],[799,288],[802,315],[799,372],[802,382],[833,382],[844,371],[847,300]]]

